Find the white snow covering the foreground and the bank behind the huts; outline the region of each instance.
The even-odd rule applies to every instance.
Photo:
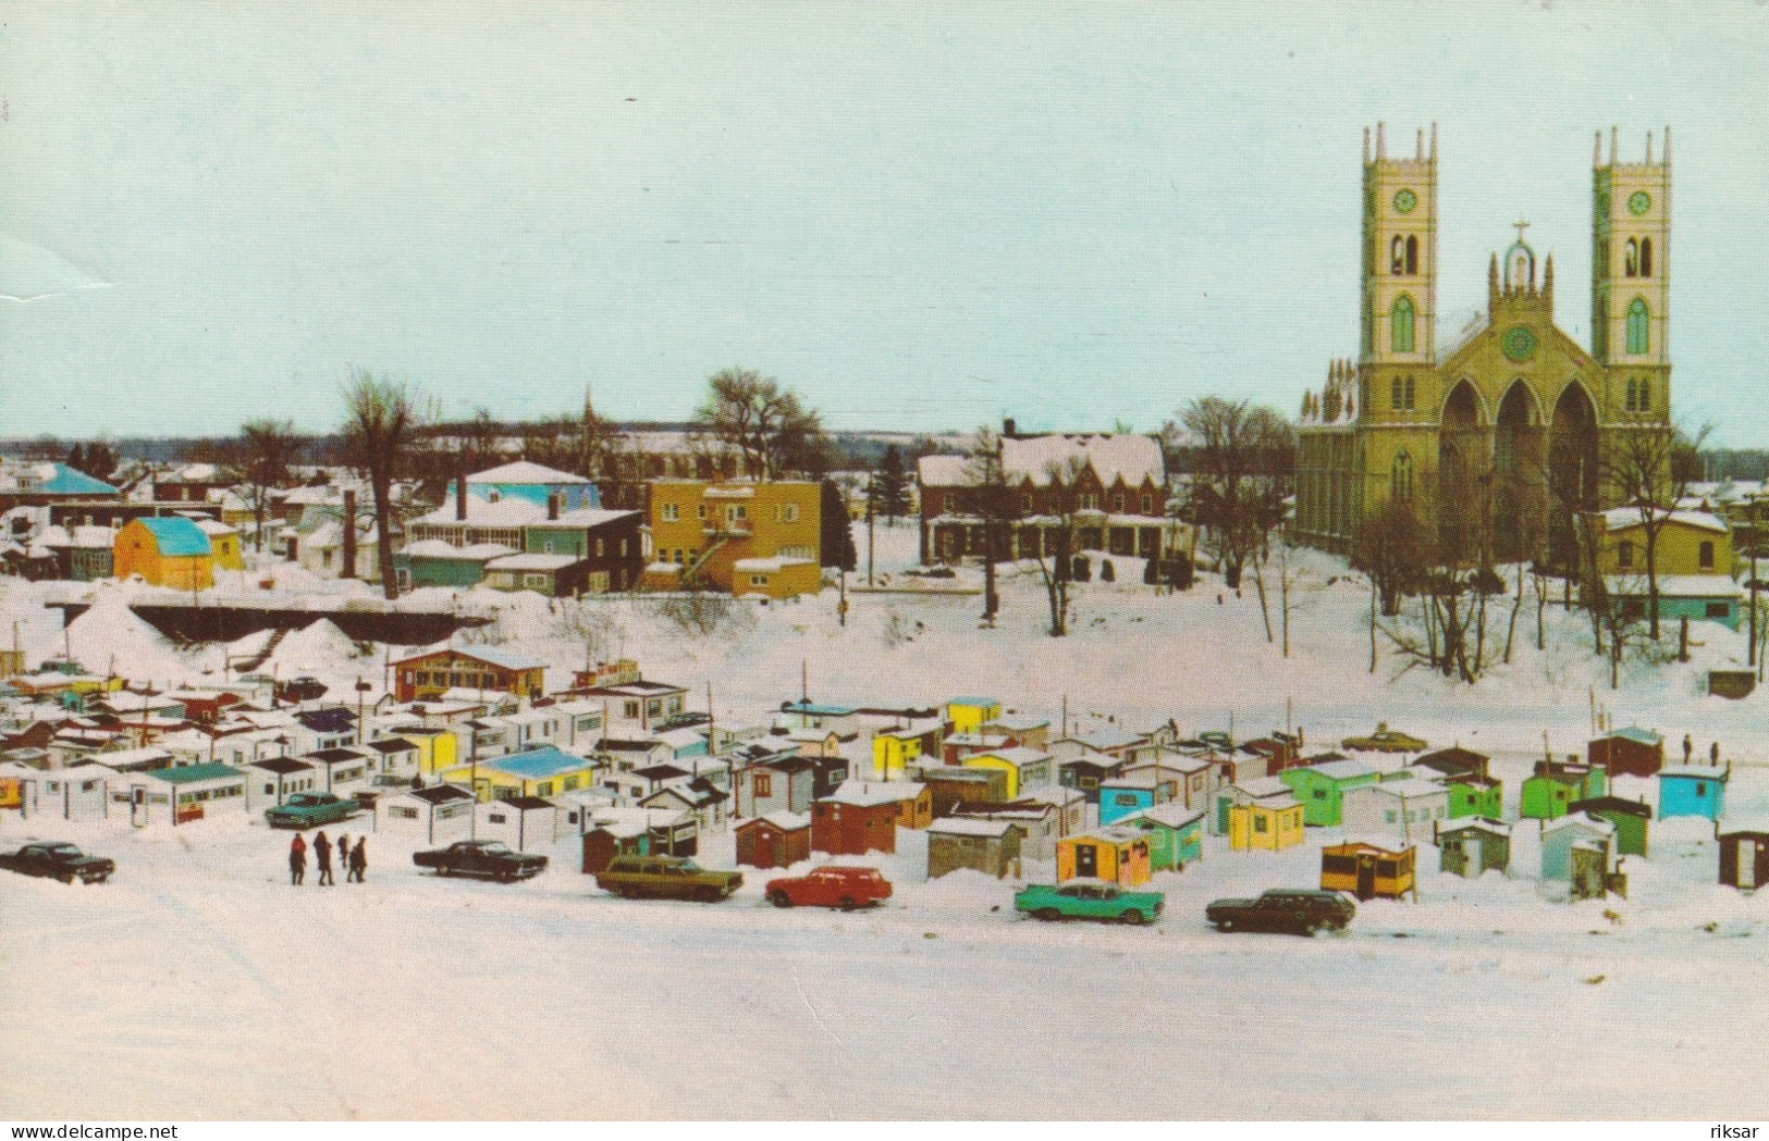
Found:
[[[879,537],[902,586],[915,530]],[[863,530],[858,542],[863,565]],[[1728,818],[1769,814],[1765,698],[1700,694],[1709,664],[1742,659],[1742,636],[1698,625],[1693,662],[1631,666],[1612,692],[1576,615],[1550,611],[1537,654],[1527,608],[1514,664],[1479,687],[1396,676],[1387,654],[1371,675],[1367,595],[1309,558],[1288,659],[1251,586],[1237,599],[1206,576],[1157,597],[1136,560],[1116,560],[1118,585],[1077,590],[1065,639],[1042,634],[1037,581],[1010,574],[994,629],[978,629],[975,595],[851,592],[846,627],[833,592],[745,604],[711,636],[610,601],[589,648],[697,694],[711,682],[727,724],[796,698],[801,669],[821,701],[989,692],[1054,719],[1067,696],[1081,728],[1233,715],[1251,737],[1283,728],[1288,701],[1311,747],[1383,719],[1495,754],[1507,816],[1544,731],[1555,752],[1581,751],[1596,687],[1615,724],[1654,728],[1673,752],[1684,733],[1704,756],[1718,738],[1737,765]],[[32,657],[64,643],[35,590],[0,599]],[[101,593],[67,631],[76,657],[115,655],[157,684],[219,676],[219,646],[177,650],[122,609],[126,588]],[[495,613],[488,636],[545,657],[555,685],[586,655],[532,595],[455,604]],[[264,671],[347,689],[379,684],[380,662],[310,629]],[[1617,784],[1654,800],[1649,782]],[[177,830],[0,816],[0,848],[35,835],[110,855],[119,874],[0,876],[0,1116],[1769,1116],[1748,1062],[1769,903],[1714,883],[1698,821],[1654,821],[1652,858],[1627,858],[1627,901],[1560,903],[1534,878],[1528,830],[1511,880],[1440,876],[1422,848],[1417,904],[1362,904],[1348,933],[1313,940],[1217,934],[1203,906],[1313,885],[1332,830],[1283,855],[1212,839],[1201,864],[1157,876],[1168,910],[1150,929],[1021,920],[1012,883],[971,873],[923,883],[915,834],[876,860],[897,883],[890,906],[858,915],[773,910],[771,873],[716,906],[616,901],[568,841],[541,878],[497,885],[419,876],[409,846],[373,837],[366,885],[292,888],[287,834],[244,814]],[[727,862],[729,843],[706,862]]]

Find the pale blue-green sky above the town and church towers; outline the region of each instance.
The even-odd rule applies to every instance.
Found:
[[[729,364],[839,427],[1293,415],[1385,118],[1438,122],[1440,339],[1521,214],[1585,344],[1592,134],[1672,124],[1675,413],[1769,445],[1762,0],[0,12],[0,434],[329,427],[352,364],[451,415]]]

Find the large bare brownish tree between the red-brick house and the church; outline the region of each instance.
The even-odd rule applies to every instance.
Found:
[[[1191,445],[1192,516],[1206,528],[1224,585],[1238,588],[1242,569],[1275,526],[1270,505],[1290,493],[1295,429],[1263,404],[1205,396],[1180,410],[1166,436]]]

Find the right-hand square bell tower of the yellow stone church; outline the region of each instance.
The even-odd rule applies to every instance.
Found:
[[[1592,155],[1590,351],[1610,371],[1610,415],[1668,422],[1670,415],[1670,127],[1663,159],[1610,157],[1603,132]]]

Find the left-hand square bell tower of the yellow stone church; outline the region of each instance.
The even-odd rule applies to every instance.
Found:
[[[1413,155],[1389,157],[1376,124],[1364,129],[1364,268],[1359,374],[1362,420],[1406,424],[1440,399],[1436,362],[1436,124],[1419,131]]]

